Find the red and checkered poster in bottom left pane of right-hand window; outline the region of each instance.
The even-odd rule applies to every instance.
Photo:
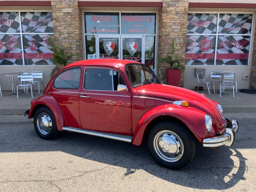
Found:
[[[215,36],[187,36],[186,65],[214,65]]]

